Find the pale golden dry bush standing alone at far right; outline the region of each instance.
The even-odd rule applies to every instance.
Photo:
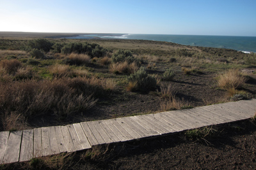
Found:
[[[223,89],[238,89],[243,87],[246,82],[246,77],[243,76],[238,69],[230,69],[220,74],[217,81],[219,87]]]

